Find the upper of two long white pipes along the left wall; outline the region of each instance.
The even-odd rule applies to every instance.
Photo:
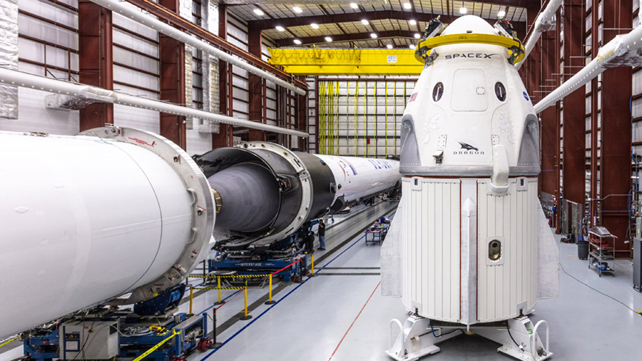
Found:
[[[132,19],[133,21],[136,21],[139,24],[142,24],[162,34],[170,36],[171,38],[176,39],[183,44],[189,44],[191,46],[194,46],[195,48],[200,49],[201,51],[204,51],[205,53],[210,54],[211,56],[215,56],[220,60],[231,63],[235,66],[238,66],[239,68],[243,68],[249,71],[250,73],[260,76],[261,78],[265,78],[269,81],[273,81],[274,83],[284,88],[290,89],[291,91],[294,91],[299,95],[305,96],[305,89],[299,88],[293,85],[292,83],[288,83],[287,81],[275,76],[272,73],[269,73],[260,68],[257,68],[256,66],[250,65],[244,60],[239,59],[237,56],[233,56],[228,53],[225,53],[225,51],[215,48],[214,46],[211,46],[210,44],[208,44],[208,42],[203,41],[201,39],[197,39],[194,36],[191,36],[190,34],[186,34],[185,32],[180,31],[174,28],[173,26],[163,23],[163,21],[153,19],[151,16],[147,16],[143,14],[140,11],[140,9],[136,7],[126,6],[125,4],[122,4],[119,1],[113,1],[113,0],[89,0],[89,1],[96,3],[100,6],[106,7],[111,11],[116,11],[118,14],[126,16]]]

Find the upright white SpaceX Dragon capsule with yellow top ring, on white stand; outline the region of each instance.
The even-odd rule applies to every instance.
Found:
[[[417,360],[463,328],[544,360],[548,324],[528,315],[556,295],[559,256],[538,199],[539,122],[514,66],[524,48],[506,20],[462,16],[435,36],[441,27],[431,21],[417,46],[426,65],[402,118],[382,291],[410,316],[392,320],[387,354]]]

